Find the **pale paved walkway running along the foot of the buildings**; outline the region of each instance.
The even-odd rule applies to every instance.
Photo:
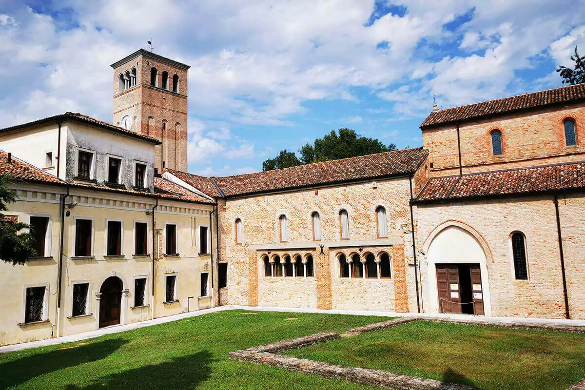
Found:
[[[0,353],[20,351],[29,348],[53,346],[61,343],[71,343],[73,341],[80,341],[86,339],[93,339],[94,337],[103,336],[104,334],[126,332],[126,330],[138,329],[140,327],[158,325],[167,322],[177,321],[188,317],[202,316],[208,313],[221,312],[223,310],[250,310],[254,312],[290,312],[290,313],[324,313],[324,314],[346,314],[359,316],[383,316],[383,317],[435,317],[454,320],[466,320],[473,317],[475,321],[479,322],[499,322],[499,323],[526,323],[526,324],[541,324],[541,325],[565,325],[565,326],[585,326],[585,320],[565,320],[565,319],[541,319],[541,318],[511,318],[511,317],[486,317],[486,316],[469,316],[460,314],[431,314],[431,313],[396,313],[383,312],[373,310],[339,310],[339,309],[301,309],[301,308],[273,308],[268,306],[237,306],[226,305],[218,306],[213,309],[197,310],[195,312],[181,313],[174,316],[160,317],[153,320],[142,322],[135,322],[126,325],[109,326],[102,329],[92,330],[90,332],[71,334],[70,336],[56,337],[55,339],[30,341],[29,343],[13,344],[11,346],[0,347]]]

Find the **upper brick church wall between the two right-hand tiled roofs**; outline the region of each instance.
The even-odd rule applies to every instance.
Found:
[[[563,127],[566,118],[573,118],[576,122],[576,146],[566,146]],[[464,122],[460,125],[463,172],[583,160],[584,124],[583,102]],[[502,133],[501,156],[492,153],[490,133],[494,129]],[[432,175],[459,173],[455,125],[423,130],[422,143],[430,153],[428,162],[433,163]]]

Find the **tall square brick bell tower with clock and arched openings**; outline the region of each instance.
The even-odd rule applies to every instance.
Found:
[[[162,142],[154,167],[187,172],[189,65],[139,49],[111,65],[113,123]]]

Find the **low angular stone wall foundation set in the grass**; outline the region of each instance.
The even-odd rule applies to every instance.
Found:
[[[497,326],[520,329],[554,330],[560,332],[585,333],[585,327],[559,326],[559,325],[537,325],[530,323],[506,323],[478,320],[474,318],[464,320],[445,319],[441,317],[401,317],[393,320],[376,322],[369,325],[359,326],[347,330],[344,334],[337,332],[316,333],[309,336],[298,337],[297,339],[277,341],[248,348],[247,350],[233,351],[229,353],[232,360],[248,361],[251,363],[267,364],[274,367],[285,368],[286,370],[303,372],[305,374],[319,375],[329,379],[340,379],[363,385],[375,386],[383,389],[394,390],[479,390],[472,386],[457,384],[446,384],[434,379],[411,377],[409,375],[395,374],[383,370],[371,370],[370,368],[345,367],[342,365],[324,363],[292,356],[280,355],[284,351],[312,346],[324,343],[325,341],[339,339],[339,337],[351,337],[371,330],[386,329],[388,327],[402,325],[414,321],[432,321],[463,323],[468,325]],[[567,390],[585,390],[585,379]]]

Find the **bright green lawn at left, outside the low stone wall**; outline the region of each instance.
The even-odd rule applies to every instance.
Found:
[[[0,389],[371,389],[260,364],[230,351],[386,317],[232,310],[0,354]]]

